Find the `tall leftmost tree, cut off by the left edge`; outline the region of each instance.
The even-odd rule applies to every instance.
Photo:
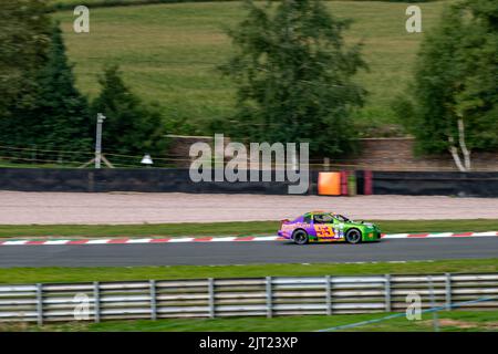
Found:
[[[43,0],[0,1],[0,142],[29,144],[33,125],[22,113],[35,106],[37,75],[46,62],[51,21]]]

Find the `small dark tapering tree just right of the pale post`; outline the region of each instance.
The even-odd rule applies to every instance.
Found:
[[[165,147],[164,126],[158,107],[146,106],[124,84],[116,65],[104,70],[102,91],[92,103],[94,117],[106,116],[102,144],[118,154],[159,154]]]

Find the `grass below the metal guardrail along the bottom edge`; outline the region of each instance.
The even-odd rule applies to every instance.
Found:
[[[103,323],[69,323],[44,326],[27,324],[0,324],[0,331],[147,331],[147,332],[311,332],[332,326],[352,324],[360,321],[380,319],[385,313],[362,315],[310,315],[286,317],[238,317],[238,319],[184,319],[158,321],[115,321]],[[443,332],[497,331],[498,311],[452,311],[439,312],[439,329]],[[371,325],[362,325],[347,331],[369,332],[430,332],[432,314],[423,314],[421,321],[407,321],[405,317],[387,320]]]

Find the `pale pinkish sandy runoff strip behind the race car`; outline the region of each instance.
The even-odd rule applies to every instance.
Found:
[[[352,219],[498,219],[498,198],[0,191],[0,225],[281,220],[330,210]]]

